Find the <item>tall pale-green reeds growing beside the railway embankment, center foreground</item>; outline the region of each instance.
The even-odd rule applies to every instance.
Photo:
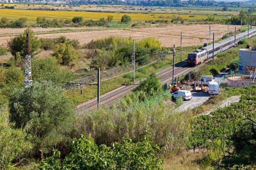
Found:
[[[170,98],[168,93],[151,96],[144,102],[134,100],[137,96],[133,95],[112,107],[79,116],[75,123],[76,136],[91,134],[96,144],[109,145],[128,137],[137,139],[148,130],[164,154],[181,152],[187,140],[184,136],[189,131],[190,115],[175,113],[172,105],[164,104]]]

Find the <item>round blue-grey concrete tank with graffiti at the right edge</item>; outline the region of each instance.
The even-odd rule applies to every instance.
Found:
[[[239,73],[250,74],[256,72],[256,49],[239,49]]]

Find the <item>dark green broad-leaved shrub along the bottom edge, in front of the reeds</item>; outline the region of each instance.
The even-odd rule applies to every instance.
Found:
[[[42,161],[38,165],[39,170],[45,169],[145,169],[162,170],[159,164],[162,159],[157,156],[160,147],[148,140],[147,136],[132,142],[126,139],[120,144],[114,142],[112,147],[102,144],[93,144],[83,135],[80,139],[73,139],[71,142],[71,153],[64,160],[60,159],[60,152],[54,151],[54,155]],[[145,149],[146,148],[146,149]]]

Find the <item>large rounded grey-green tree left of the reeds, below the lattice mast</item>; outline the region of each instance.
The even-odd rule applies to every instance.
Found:
[[[19,89],[10,98],[10,120],[16,128],[30,126],[33,153],[43,158],[53,147],[68,139],[73,119],[73,104],[51,82],[34,83]]]

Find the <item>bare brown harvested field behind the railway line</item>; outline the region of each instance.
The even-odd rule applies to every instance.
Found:
[[[230,26],[229,30],[233,31],[235,26]],[[237,26],[239,28],[239,26]],[[166,47],[172,47],[173,44],[177,46],[180,45],[180,32],[183,32],[183,46],[191,45],[201,45],[208,40],[203,40],[202,42],[199,38],[209,37],[209,25],[167,25],[156,27],[152,25],[150,28],[125,28],[125,29],[108,29],[108,30],[97,30],[88,29],[86,31],[79,31],[85,28],[69,28],[74,29],[76,32],[67,33],[52,33],[52,34],[40,34],[42,31],[52,31],[64,28],[32,28],[35,33],[38,32],[39,38],[56,38],[60,36],[66,36],[70,39],[77,39],[81,44],[87,44],[91,40],[97,40],[102,38],[107,38],[110,36],[120,36],[120,37],[133,37],[136,40],[141,40],[145,37],[155,37],[157,40],[162,42],[162,45]],[[215,40],[220,39],[227,32],[227,25],[212,25],[212,31],[215,32]],[[0,45],[6,45],[7,40],[10,40],[12,35],[7,35],[11,33],[22,33],[24,28],[18,29],[6,29],[1,28],[0,32]],[[4,35],[7,36],[4,36]]]

